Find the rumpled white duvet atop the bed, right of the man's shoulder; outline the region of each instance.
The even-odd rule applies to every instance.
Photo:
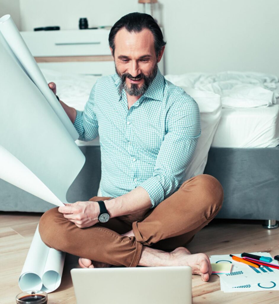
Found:
[[[182,87],[214,92],[221,96],[223,108],[254,108],[276,103],[279,80],[274,75],[256,72],[187,73],[166,75]]]

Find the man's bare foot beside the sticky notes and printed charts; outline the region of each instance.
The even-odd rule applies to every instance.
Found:
[[[205,282],[209,280],[212,269],[206,254],[190,254],[190,251],[185,247],[177,247],[170,254],[174,266],[190,266],[193,274],[200,275]]]

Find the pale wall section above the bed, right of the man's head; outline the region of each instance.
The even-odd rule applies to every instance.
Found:
[[[160,2],[168,73],[238,70],[279,76],[278,0]]]

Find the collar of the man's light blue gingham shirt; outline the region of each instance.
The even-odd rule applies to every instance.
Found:
[[[121,78],[118,76],[118,74],[114,75],[114,84],[119,89],[119,86],[121,84]],[[164,84],[165,84],[165,78],[159,71],[159,68],[157,70],[156,76],[147,88],[146,92],[141,96],[140,99],[150,98],[154,100],[160,100],[163,101],[163,95],[164,95]],[[119,92],[121,94],[121,92]]]

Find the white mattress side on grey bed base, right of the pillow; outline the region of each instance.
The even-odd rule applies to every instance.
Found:
[[[279,144],[279,105],[222,109],[211,147],[263,148]]]

